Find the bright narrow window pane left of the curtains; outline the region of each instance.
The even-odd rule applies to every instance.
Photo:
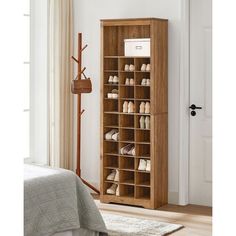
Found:
[[[23,133],[23,158],[30,158],[30,0],[23,0],[24,3],[24,105],[22,108],[24,116]]]

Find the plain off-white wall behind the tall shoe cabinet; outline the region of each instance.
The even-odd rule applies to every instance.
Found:
[[[100,169],[100,19],[158,17],[169,19],[169,202],[178,202],[179,74],[181,0],[74,0],[75,42],[83,33],[86,74],[93,92],[83,95],[82,175],[99,185]],[[76,46],[76,45],[75,45]],[[75,48],[76,55],[76,48]]]

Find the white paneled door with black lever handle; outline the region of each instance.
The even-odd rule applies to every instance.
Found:
[[[190,0],[190,203],[212,205],[212,0]],[[193,106],[194,108],[194,106]],[[192,114],[191,114],[192,112]],[[196,114],[194,114],[196,113]],[[195,116],[194,116],[195,115]]]

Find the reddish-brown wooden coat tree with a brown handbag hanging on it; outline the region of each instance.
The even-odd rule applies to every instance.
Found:
[[[78,59],[72,56],[72,59],[77,63],[78,65],[78,75],[77,77],[71,81],[71,92],[73,94],[78,95],[78,104],[77,104],[77,168],[76,168],[76,174],[81,178],[83,183],[87,185],[90,189],[95,191],[96,193],[100,194],[100,191],[96,189],[94,186],[92,186],[90,183],[88,183],[86,180],[84,180],[81,177],[81,116],[84,113],[84,109],[81,110],[81,94],[82,93],[91,93],[92,92],[92,83],[91,79],[87,78],[85,75],[86,67],[82,69],[82,52],[88,45],[86,44],[84,47],[82,47],[82,33],[78,34]],[[81,77],[84,77],[82,79]]]

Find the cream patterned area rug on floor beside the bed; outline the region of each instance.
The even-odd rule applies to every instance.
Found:
[[[101,212],[109,236],[163,236],[173,233],[183,225],[155,220],[138,219]]]

